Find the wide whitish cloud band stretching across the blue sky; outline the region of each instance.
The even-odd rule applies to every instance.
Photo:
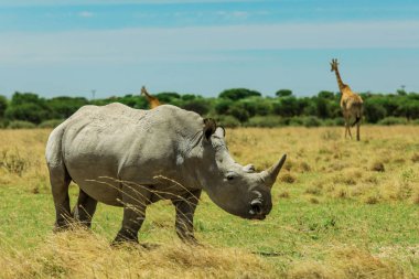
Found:
[[[419,47],[419,21],[0,33],[0,61],[129,64],[228,60],[228,51]]]

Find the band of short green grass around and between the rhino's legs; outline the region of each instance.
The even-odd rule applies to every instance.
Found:
[[[240,247],[265,255],[280,270],[294,260],[323,260],[335,247],[356,247],[372,254],[390,248],[394,253],[391,260],[409,265],[404,259],[404,250],[419,244],[418,205],[402,202],[365,204],[348,198],[313,204],[299,196],[300,190],[293,187],[289,198],[275,197],[273,210],[264,222],[232,216],[204,195],[195,214],[197,238],[215,247]],[[273,195],[277,193],[278,190]],[[73,202],[76,195],[74,186],[71,191]],[[7,186],[0,187],[0,247],[35,250],[52,234],[54,208],[51,194]],[[121,217],[121,208],[99,204],[93,230],[110,243]],[[175,238],[173,223],[174,208],[170,203],[150,206],[140,230],[140,242],[172,242]],[[410,264],[413,270],[419,270],[417,259],[412,257]]]

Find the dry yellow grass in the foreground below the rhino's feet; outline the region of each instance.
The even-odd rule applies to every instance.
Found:
[[[50,236],[36,253],[0,254],[0,278],[275,278],[259,257],[174,242],[154,248],[109,242],[83,228]]]

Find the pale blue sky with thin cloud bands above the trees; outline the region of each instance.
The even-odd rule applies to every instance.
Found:
[[[418,0],[0,0],[0,95],[419,92]]]

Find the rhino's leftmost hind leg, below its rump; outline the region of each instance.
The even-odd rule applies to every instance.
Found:
[[[68,185],[72,179],[65,167],[50,168],[51,190],[55,205],[55,229],[68,228],[72,223]]]

